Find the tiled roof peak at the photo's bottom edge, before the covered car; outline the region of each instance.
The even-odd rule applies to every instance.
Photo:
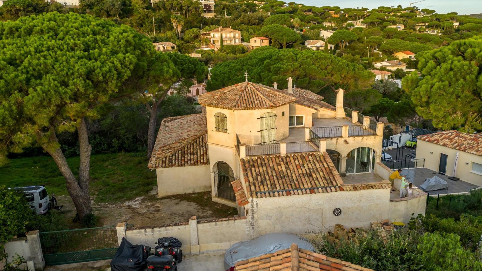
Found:
[[[297,244],[291,244],[290,248],[282,249],[274,253],[241,260],[236,263],[236,271],[371,271],[360,265],[352,264],[340,259],[327,257],[323,254],[298,248]]]

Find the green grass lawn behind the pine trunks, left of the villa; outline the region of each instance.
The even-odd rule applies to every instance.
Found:
[[[78,174],[79,157],[67,158]],[[156,183],[156,172],[147,168],[146,153],[94,154],[90,163],[90,194],[96,202],[120,202],[145,195]],[[66,181],[50,156],[11,159],[0,167],[1,185],[46,185],[49,194],[68,195]]]

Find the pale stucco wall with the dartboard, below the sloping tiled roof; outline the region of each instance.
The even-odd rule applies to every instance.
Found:
[[[254,214],[260,234],[285,232],[305,234],[334,230],[335,224],[368,228],[370,222],[389,217],[389,189],[341,191],[253,199],[246,205]],[[342,213],[335,216],[333,210]]]

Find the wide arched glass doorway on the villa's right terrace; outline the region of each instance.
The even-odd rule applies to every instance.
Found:
[[[375,151],[371,148],[359,147],[347,154],[347,173],[370,173],[374,166]]]

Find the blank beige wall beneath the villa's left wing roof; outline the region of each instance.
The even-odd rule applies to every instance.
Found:
[[[211,190],[209,164],[156,169],[159,197]]]

